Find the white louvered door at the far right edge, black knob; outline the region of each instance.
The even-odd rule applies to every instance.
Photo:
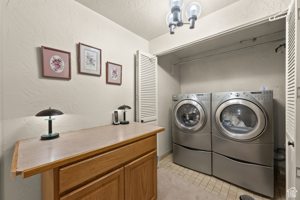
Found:
[[[299,1],[292,0],[286,17],[286,199],[300,198],[300,179],[296,178],[296,166],[300,167],[300,98],[297,98],[297,86],[300,85]],[[294,147],[288,142],[294,142]],[[292,190],[298,191],[296,196],[290,193]]]

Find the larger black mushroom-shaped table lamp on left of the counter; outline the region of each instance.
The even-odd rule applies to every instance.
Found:
[[[55,118],[51,118],[51,116],[54,115],[63,115],[64,113],[62,113],[59,110],[56,109],[46,109],[46,110],[42,110],[41,112],[39,112],[38,114],[36,114],[35,116],[37,117],[45,117],[45,116],[49,116],[49,119],[45,119],[48,120],[48,124],[49,124],[49,131],[48,134],[42,135],[41,136],[41,140],[51,140],[51,139],[55,139],[59,137],[59,133],[52,133],[52,120]]]

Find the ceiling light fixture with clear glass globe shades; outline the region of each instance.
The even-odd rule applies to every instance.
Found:
[[[183,23],[182,20],[182,7],[184,0],[169,0],[169,7],[171,12],[167,14],[166,22],[170,27],[170,34],[174,34],[176,26],[190,24],[190,29],[195,28],[195,21],[201,13],[201,5],[198,2],[190,3],[185,10],[185,15],[190,23]]]

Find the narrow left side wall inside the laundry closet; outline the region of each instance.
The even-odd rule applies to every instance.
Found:
[[[158,57],[158,126],[165,128],[158,133],[159,156],[173,149],[172,94],[181,94],[180,67],[171,75],[171,62],[178,63],[179,58],[171,54]]]

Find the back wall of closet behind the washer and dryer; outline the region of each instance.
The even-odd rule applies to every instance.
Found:
[[[271,43],[181,64],[181,91],[184,94],[253,91],[262,90],[262,87],[273,90],[274,150],[283,148],[285,53],[275,53],[279,44]],[[285,167],[285,162],[274,161],[274,164]]]

